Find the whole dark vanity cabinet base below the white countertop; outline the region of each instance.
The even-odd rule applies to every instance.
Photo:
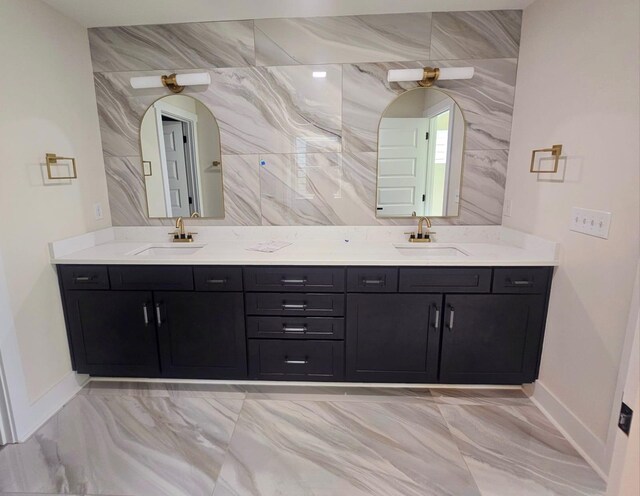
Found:
[[[551,267],[61,265],[95,376],[523,384]]]

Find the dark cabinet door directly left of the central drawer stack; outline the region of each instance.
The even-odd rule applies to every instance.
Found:
[[[154,293],[164,377],[243,379],[242,293]]]

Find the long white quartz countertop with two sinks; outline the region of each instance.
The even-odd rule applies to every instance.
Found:
[[[433,243],[408,243],[406,226],[204,227],[170,243],[166,227],[114,227],[50,244],[53,264],[553,266],[555,243],[501,226],[437,226]],[[435,229],[434,229],[435,230]],[[290,245],[251,250],[265,241]],[[152,248],[151,252],[146,252]],[[185,251],[182,251],[185,250]]]

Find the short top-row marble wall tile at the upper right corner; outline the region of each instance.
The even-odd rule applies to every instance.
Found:
[[[436,12],[432,59],[517,57],[522,11]]]

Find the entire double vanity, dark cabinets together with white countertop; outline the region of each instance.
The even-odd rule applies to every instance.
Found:
[[[152,227],[52,243],[77,372],[447,384],[537,378],[553,243],[500,226],[438,226],[436,243],[409,243],[397,227],[198,230],[194,243],[167,243],[166,228]],[[256,251],[269,239],[290,244]]]

